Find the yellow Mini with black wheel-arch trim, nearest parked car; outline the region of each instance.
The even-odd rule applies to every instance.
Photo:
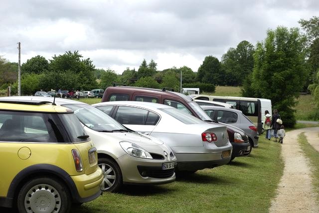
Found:
[[[72,110],[0,99],[0,207],[65,213],[101,194],[97,152]]]

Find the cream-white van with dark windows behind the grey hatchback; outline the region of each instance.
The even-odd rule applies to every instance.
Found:
[[[256,126],[259,134],[263,133],[263,118],[265,110],[269,112],[271,109],[271,100],[264,98],[247,98],[233,96],[213,96],[213,95],[197,95],[193,100],[218,101],[232,104],[235,109],[243,112]]]

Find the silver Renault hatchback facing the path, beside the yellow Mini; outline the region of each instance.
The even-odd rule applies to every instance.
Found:
[[[98,165],[104,173],[103,191],[118,191],[123,184],[159,185],[175,181],[176,157],[162,141],[127,129],[91,105],[60,98],[55,103],[73,110],[94,141]]]

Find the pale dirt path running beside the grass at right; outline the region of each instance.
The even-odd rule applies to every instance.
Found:
[[[285,163],[284,175],[277,189],[278,195],[272,201],[271,213],[304,212],[318,213],[316,195],[311,185],[311,169],[298,145],[298,135],[305,132],[307,140],[319,151],[319,128],[305,128],[286,133],[282,144]],[[274,142],[275,143],[275,142]]]

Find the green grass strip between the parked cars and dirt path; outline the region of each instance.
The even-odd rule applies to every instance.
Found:
[[[229,165],[197,171],[167,185],[126,186],[121,193],[104,193],[73,211],[268,212],[283,173],[281,146],[263,135],[259,146]]]

